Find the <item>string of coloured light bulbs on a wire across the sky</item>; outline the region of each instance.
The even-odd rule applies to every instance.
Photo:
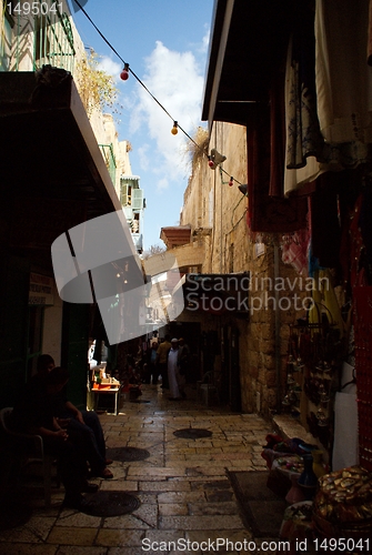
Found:
[[[119,60],[123,63],[123,70],[121,71],[120,73],[120,79],[122,81],[127,81],[128,78],[129,78],[129,73],[131,73],[133,75],[133,78],[138,81],[138,83],[143,87],[143,89],[148,92],[148,94],[150,94],[150,97],[152,98],[152,100],[154,100],[154,102],[157,102],[157,104],[165,112],[165,114],[173,121],[173,127],[171,129],[171,133],[173,135],[175,135],[178,133],[178,130],[180,129],[182,131],[182,133],[189,139],[189,141],[191,141],[209,160],[209,167],[214,170],[218,165],[220,167],[220,171],[222,171],[223,173],[225,173],[227,175],[231,175],[230,173],[228,173],[222,167],[221,167],[221,162],[218,162],[217,160],[214,160],[214,157],[213,154],[210,155],[208,152],[205,152],[204,149],[202,149],[200,147],[200,144],[198,144],[193,139],[192,137],[189,135],[189,133],[179,124],[179,122],[168,112],[168,110],[163,107],[163,104],[152,94],[152,92],[147,88],[147,85],[143,83],[143,81],[134,73],[134,71],[131,69],[130,64],[128,62],[125,62],[122,57],[119,54],[119,52],[115,50],[115,48],[111,44],[111,42],[104,37],[104,34],[100,31],[100,29],[97,27],[97,24],[94,23],[94,21],[91,19],[91,17],[89,16],[89,13],[84,10],[84,8],[81,6],[81,3],[79,2],[79,0],[73,0],[73,2],[80,8],[80,10],[82,11],[82,13],[86,16],[86,18],[88,19],[88,21],[93,26],[93,28],[95,29],[95,31],[99,33],[99,36],[101,37],[101,39],[107,43],[107,46],[112,50],[112,52],[119,58]],[[213,150],[212,150],[213,152]],[[217,152],[217,151],[215,151]],[[219,153],[217,153],[219,154]],[[221,154],[219,154],[221,157]],[[221,157],[225,160],[225,157]],[[229,185],[232,186],[233,185],[233,182],[237,182],[239,185],[241,186],[245,186],[243,185],[242,183],[240,183],[235,178],[232,178],[230,176],[230,181],[229,181]]]

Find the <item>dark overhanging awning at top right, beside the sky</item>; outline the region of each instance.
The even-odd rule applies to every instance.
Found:
[[[283,62],[293,0],[215,0],[202,120],[247,125]]]

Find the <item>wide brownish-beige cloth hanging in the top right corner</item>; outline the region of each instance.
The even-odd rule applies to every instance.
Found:
[[[371,142],[372,69],[365,63],[368,21],[365,0],[315,2],[318,115],[322,134],[330,144]]]

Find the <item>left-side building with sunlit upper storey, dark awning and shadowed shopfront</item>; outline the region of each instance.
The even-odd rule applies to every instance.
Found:
[[[130,145],[112,115],[87,112],[79,89],[86,50],[68,2],[29,8],[8,2],[0,17],[0,406],[12,406],[39,354],[49,353],[69,369],[69,398],[84,407],[92,306],[62,302],[51,244],[122,209]],[[48,295],[34,293],[42,287]]]

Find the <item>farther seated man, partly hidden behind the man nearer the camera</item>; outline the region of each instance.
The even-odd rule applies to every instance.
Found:
[[[38,374],[46,376],[54,369],[54,361],[49,354],[42,354],[38,359]],[[107,467],[111,460],[105,458],[105,442],[100,420],[94,411],[79,411],[70,401],[67,400],[66,389],[59,392],[56,397],[56,416],[60,423],[67,425],[68,433],[80,433],[83,438],[87,451],[87,461],[91,467],[92,476],[99,476],[105,480],[112,478],[113,474]]]

